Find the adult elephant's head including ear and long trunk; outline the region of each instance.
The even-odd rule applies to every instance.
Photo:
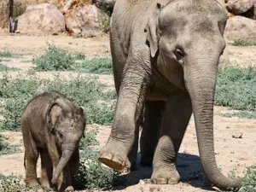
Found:
[[[189,92],[201,162],[220,189],[241,185],[218,170],[213,142],[213,101],[218,61],[225,47],[227,15],[214,0],[162,0],[154,4],[145,32],[158,71]]]

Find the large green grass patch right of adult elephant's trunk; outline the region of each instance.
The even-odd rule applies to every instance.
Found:
[[[242,111],[232,115],[253,118],[256,115],[255,84],[256,72],[253,67],[246,69],[220,67],[218,69],[215,104]]]

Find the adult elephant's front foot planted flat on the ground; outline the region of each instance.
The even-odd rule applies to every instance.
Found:
[[[176,169],[168,170],[161,169],[154,171],[151,177],[151,183],[153,184],[177,184],[180,180],[180,176]]]

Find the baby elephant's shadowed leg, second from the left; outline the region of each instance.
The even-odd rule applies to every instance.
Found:
[[[41,156],[41,164],[42,164],[40,183],[42,187],[49,188],[50,187],[49,181],[51,180],[51,177],[53,174],[52,162],[47,150],[41,150],[40,156]]]

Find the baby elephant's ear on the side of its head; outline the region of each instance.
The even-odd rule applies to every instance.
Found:
[[[55,130],[55,125],[58,119],[60,119],[61,115],[62,115],[61,106],[55,101],[51,102],[49,104],[49,108],[46,113],[46,123],[51,132]]]

